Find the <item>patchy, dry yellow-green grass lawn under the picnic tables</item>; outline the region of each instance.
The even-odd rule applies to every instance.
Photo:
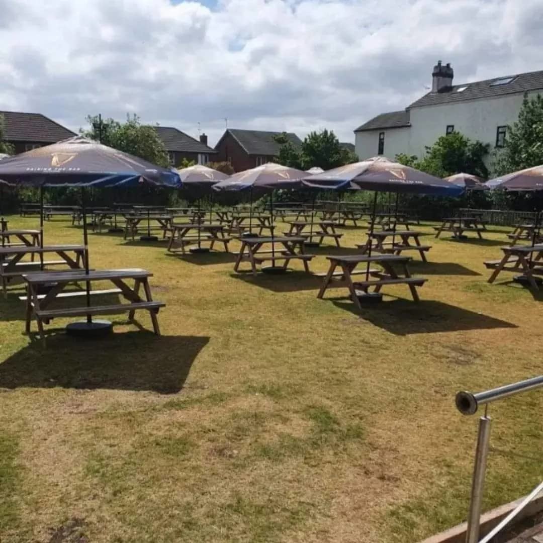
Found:
[[[543,312],[510,274],[486,282],[508,229],[482,242],[421,229],[433,248],[411,267],[429,280],[420,304],[394,286],[362,315],[341,289],[318,300],[300,263],[235,275],[224,252],[182,259],[91,234],[91,267],[153,272],[162,337],[148,314],[144,331],[124,314],[108,339],[52,334],[44,350],[23,334],[12,286],[0,300],[2,543],[408,543],[464,520],[477,417],[454,394],[541,374]],[[364,241],[342,232],[344,247]],[[45,236],[78,243],[81,229],[54,219]],[[489,412],[485,508],[540,481],[543,396]]]

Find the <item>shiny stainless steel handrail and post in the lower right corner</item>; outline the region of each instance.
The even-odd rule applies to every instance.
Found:
[[[528,392],[528,390],[534,390],[542,387],[543,375],[540,375],[525,381],[519,381],[503,387],[485,390],[484,392],[479,392],[476,394],[465,391],[459,392],[455,399],[456,407],[460,413],[472,415],[477,412],[479,405],[488,405],[490,402],[501,400],[505,397],[513,396],[514,394]],[[487,469],[489,444],[490,417],[487,416],[487,410],[485,409],[484,416],[479,419],[477,447],[475,450],[475,465],[473,466],[473,479],[471,484],[470,509],[468,513],[468,528],[466,529],[466,543],[477,543],[479,541],[479,524],[481,522],[484,475]],[[536,495],[539,494],[540,491],[541,489],[539,489]],[[513,518],[513,516],[511,518]],[[483,541],[489,541],[489,539]]]

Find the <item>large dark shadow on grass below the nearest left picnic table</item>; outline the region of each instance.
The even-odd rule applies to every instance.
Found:
[[[47,348],[31,343],[0,364],[0,387],[152,390],[179,392],[209,337],[113,334],[81,340],[47,334]]]

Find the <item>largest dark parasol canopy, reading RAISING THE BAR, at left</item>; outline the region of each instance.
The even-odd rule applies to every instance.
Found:
[[[45,187],[115,187],[142,182],[181,186],[176,172],[83,136],[2,160],[0,179]]]

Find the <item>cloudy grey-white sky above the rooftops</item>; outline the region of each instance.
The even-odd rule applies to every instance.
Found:
[[[455,83],[543,70],[541,28],[543,0],[0,0],[0,110],[353,141],[437,60]]]

